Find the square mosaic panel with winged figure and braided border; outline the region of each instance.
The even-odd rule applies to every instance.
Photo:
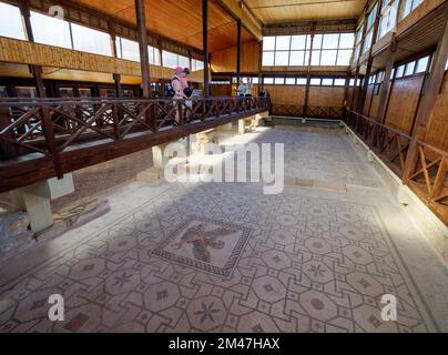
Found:
[[[190,216],[151,254],[228,277],[252,230],[202,216]]]

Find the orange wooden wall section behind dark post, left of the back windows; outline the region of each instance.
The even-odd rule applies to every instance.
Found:
[[[241,49],[241,71],[257,73],[259,71],[259,43],[252,41],[243,43]],[[212,54],[212,71],[215,73],[236,72],[236,47]]]

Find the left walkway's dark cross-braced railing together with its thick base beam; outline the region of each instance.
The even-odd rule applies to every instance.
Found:
[[[0,192],[269,109],[266,98],[0,100]]]

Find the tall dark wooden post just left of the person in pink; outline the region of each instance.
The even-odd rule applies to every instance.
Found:
[[[135,16],[140,50],[140,67],[142,69],[143,98],[151,97],[150,60],[147,53],[147,30],[144,0],[135,0]]]

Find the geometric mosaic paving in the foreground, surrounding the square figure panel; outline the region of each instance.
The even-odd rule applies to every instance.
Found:
[[[375,207],[294,191],[170,185],[108,231],[3,286],[0,332],[435,329]],[[184,211],[252,230],[230,277],[154,255],[179,225],[190,225]],[[47,318],[52,293],[65,297],[64,322]],[[380,320],[385,293],[399,300],[397,323]]]

